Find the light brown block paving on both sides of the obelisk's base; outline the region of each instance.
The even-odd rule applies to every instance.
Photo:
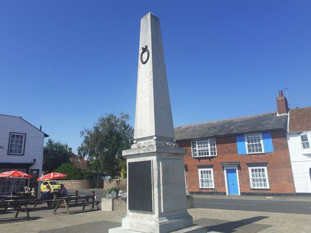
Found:
[[[26,213],[14,219],[14,212],[0,215],[3,233],[60,233],[60,232],[108,232],[109,228],[121,226],[126,211],[82,211],[73,207],[74,214],[67,215],[61,208],[57,215],[52,209],[40,207],[40,211],[30,212],[31,220],[26,221]],[[311,217],[306,214],[285,214],[224,209],[194,208],[188,212],[196,224],[208,226],[208,231],[216,232],[310,232]]]

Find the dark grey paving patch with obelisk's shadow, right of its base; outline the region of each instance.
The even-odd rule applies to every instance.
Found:
[[[256,233],[272,226],[254,223],[265,218],[268,217],[266,216],[251,217],[234,222],[211,218],[201,218],[194,221],[194,223],[207,226],[207,231],[217,231],[222,233],[230,233],[230,232]]]

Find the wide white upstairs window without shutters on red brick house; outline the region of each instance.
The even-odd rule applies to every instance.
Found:
[[[192,140],[192,158],[217,156],[214,138]]]

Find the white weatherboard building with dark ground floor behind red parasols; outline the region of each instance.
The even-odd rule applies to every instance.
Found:
[[[33,176],[31,180],[16,179],[15,191],[24,186],[39,190],[36,179],[42,173],[44,138],[49,135],[21,117],[0,114],[0,173],[19,170]],[[0,181],[0,194],[11,193],[12,179]]]

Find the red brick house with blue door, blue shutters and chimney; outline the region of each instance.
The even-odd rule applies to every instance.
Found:
[[[175,128],[189,192],[295,195],[281,91],[276,101],[278,112]]]

